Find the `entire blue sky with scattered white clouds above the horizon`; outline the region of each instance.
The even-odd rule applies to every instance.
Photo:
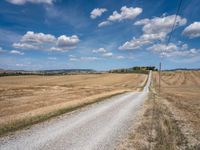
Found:
[[[199,0],[179,2],[1,0],[0,68],[200,68]]]

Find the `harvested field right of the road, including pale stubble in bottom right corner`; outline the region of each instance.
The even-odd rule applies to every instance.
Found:
[[[180,129],[185,139],[181,142],[187,148],[200,148],[200,71],[163,72],[161,79],[160,101]],[[157,73],[154,82],[158,88]]]

